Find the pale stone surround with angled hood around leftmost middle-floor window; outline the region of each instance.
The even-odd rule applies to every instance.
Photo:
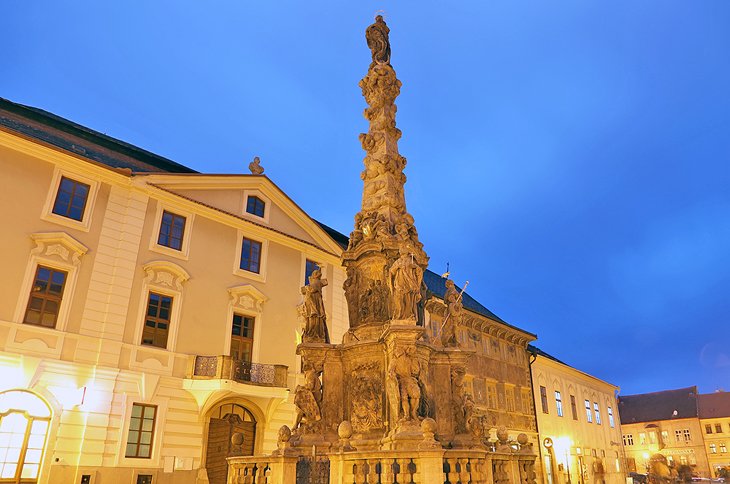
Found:
[[[30,251],[30,258],[26,265],[25,275],[20,284],[18,304],[15,308],[13,321],[23,323],[36,269],[39,265],[42,265],[68,273],[55,327],[58,331],[65,331],[74,291],[76,289],[81,257],[88,249],[81,242],[64,232],[35,233],[31,234],[30,238],[35,242],[36,247]]]

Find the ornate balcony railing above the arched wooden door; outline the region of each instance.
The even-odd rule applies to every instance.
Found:
[[[266,365],[235,360],[230,356],[192,356],[191,377],[197,379],[233,380],[238,383],[286,388],[286,365]]]

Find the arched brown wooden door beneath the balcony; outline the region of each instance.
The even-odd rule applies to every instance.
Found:
[[[243,444],[231,442],[234,434],[243,436]],[[210,484],[226,484],[228,478],[227,457],[253,455],[256,442],[256,419],[246,407],[237,403],[224,403],[213,410],[208,424],[208,445],[205,468]]]

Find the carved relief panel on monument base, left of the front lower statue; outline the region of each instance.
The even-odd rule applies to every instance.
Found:
[[[375,363],[361,365],[352,373],[350,421],[355,432],[383,427],[383,379]]]

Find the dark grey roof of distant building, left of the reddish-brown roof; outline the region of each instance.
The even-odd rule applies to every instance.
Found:
[[[624,424],[697,417],[697,387],[619,397]]]

